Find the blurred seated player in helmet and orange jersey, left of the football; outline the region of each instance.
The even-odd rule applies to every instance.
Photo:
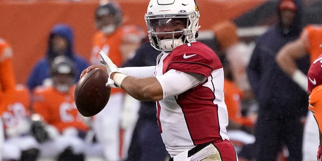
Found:
[[[50,68],[52,85],[37,87],[33,95],[33,111],[43,118],[48,135],[39,140],[41,156],[57,157],[57,161],[85,160],[89,128],[75,105],[75,74],[74,63],[66,56],[57,56]]]

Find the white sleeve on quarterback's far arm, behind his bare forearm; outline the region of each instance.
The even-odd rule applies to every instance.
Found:
[[[120,71],[124,72],[128,76],[134,76],[138,78],[154,76],[155,66],[140,66],[140,67],[122,67]]]

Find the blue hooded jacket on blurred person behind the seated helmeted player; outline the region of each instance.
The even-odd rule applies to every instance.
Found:
[[[62,36],[66,38],[68,42],[68,50],[66,51],[65,55],[74,62],[76,69],[75,83],[79,80],[79,75],[81,75],[82,71],[89,66],[88,61],[85,58],[77,55],[73,50],[72,29],[67,25],[57,24],[53,27],[49,34],[48,47],[45,57],[36,63],[27,79],[27,87],[30,90],[42,85],[43,81],[50,77],[50,65],[52,60],[57,56],[51,45],[51,39],[54,35]]]

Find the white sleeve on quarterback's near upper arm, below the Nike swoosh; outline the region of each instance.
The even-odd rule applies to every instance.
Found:
[[[156,76],[162,86],[163,98],[179,95],[206,80],[206,77],[197,73],[176,72],[171,69],[164,75]]]

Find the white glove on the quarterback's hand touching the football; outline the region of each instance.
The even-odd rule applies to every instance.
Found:
[[[106,70],[107,70],[107,73],[108,73],[108,80],[107,80],[107,83],[106,83],[106,87],[113,87],[113,88],[120,88],[118,87],[116,84],[114,84],[114,81],[113,79],[111,79],[111,74],[113,72],[118,72],[118,73],[122,73],[124,74],[122,71],[120,71],[117,66],[112,62],[112,60],[104,53],[104,51],[100,51],[100,56],[102,58],[102,60],[100,60],[100,62],[102,64],[105,65],[106,67]],[[125,74],[124,74],[125,75]]]

